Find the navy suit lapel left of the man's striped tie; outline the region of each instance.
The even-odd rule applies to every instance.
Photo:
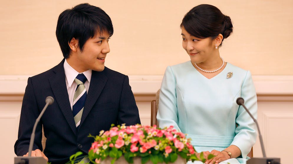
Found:
[[[66,121],[70,125],[72,131],[76,134],[76,126],[68,99],[68,92],[66,89],[65,72],[63,67],[64,60],[65,59],[63,59],[59,65],[53,68],[53,72],[55,72],[55,74],[52,75],[49,81],[56,101],[59,104]]]

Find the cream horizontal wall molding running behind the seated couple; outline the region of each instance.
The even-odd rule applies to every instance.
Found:
[[[0,75],[0,101],[22,101],[31,75]],[[129,84],[138,101],[154,98],[163,75],[129,75]],[[293,101],[293,75],[253,75],[260,101]],[[3,87],[5,86],[5,87]]]

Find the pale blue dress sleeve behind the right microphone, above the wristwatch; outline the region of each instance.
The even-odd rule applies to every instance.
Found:
[[[246,77],[241,87],[241,97],[244,99],[244,105],[250,113],[257,119],[257,99],[256,91],[252,81],[251,73],[247,71]],[[239,106],[235,129],[236,136],[231,145],[237,146],[241,150],[242,158],[246,158],[251,147],[256,142],[257,129],[253,119],[249,116],[243,106]]]

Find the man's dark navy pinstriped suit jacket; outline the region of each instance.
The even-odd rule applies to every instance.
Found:
[[[22,102],[18,140],[14,145],[17,155],[28,152],[34,122],[45,106],[47,96],[55,102],[49,105],[37,125],[33,150],[42,150],[42,125],[47,138],[45,155],[49,162],[66,163],[77,151],[87,153],[101,130],[111,124],[140,124],[139,112],[129,86],[128,76],[105,67],[92,71],[87,99],[78,128],[75,127],[68,99],[62,62],[39,75],[29,77]]]

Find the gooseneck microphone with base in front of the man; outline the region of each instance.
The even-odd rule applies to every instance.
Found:
[[[45,160],[45,158],[43,157],[31,157],[32,155],[32,147],[34,144],[34,135],[35,135],[35,131],[37,128],[37,124],[39,123],[42,115],[44,114],[45,110],[47,109],[47,107],[51,104],[53,104],[54,102],[54,98],[51,96],[46,97],[46,105],[44,106],[43,110],[41,111],[40,115],[38,116],[38,118],[36,119],[36,122],[34,123],[34,128],[32,130],[32,135],[31,135],[31,139],[29,141],[29,154],[28,157],[23,157],[23,156],[18,156],[14,158],[14,163],[18,163],[18,164],[47,164],[47,161]]]

